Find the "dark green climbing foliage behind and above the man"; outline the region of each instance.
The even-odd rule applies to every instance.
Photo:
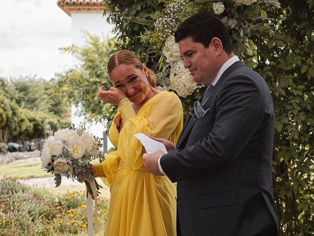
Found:
[[[115,30],[125,40],[127,48],[143,53],[144,57],[151,55],[150,63],[156,66],[158,61],[160,75],[166,77],[169,70],[165,69],[167,63],[162,54],[165,37],[158,36],[152,23],[165,15],[167,4],[175,0],[147,1],[158,6],[155,10],[137,1],[128,5],[123,0],[104,2],[113,12],[109,15],[110,21],[117,23]],[[217,2],[186,0],[184,11],[188,16],[203,7],[202,10],[213,13],[213,4]],[[279,0],[280,4],[276,0],[251,0],[251,5],[235,4],[239,0],[221,2],[225,10],[217,16],[230,29],[237,55],[263,76],[272,92],[276,112],[273,183],[281,234],[313,235],[314,0]],[[140,12],[156,13],[146,15],[147,21],[132,21],[130,19],[139,17],[138,11],[129,11],[132,7],[140,8]],[[184,19],[182,13],[179,12],[181,20]],[[148,29],[148,34],[142,27]],[[133,47],[136,35],[145,42],[140,49]],[[200,92],[182,99],[185,111]]]

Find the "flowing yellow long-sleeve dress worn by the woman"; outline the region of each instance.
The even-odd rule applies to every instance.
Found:
[[[156,94],[137,114],[130,101],[119,105],[108,133],[117,150],[95,165],[96,176],[105,177],[111,192],[105,236],[176,236],[175,185],[145,169],[145,149],[133,135],[144,133],[176,143],[182,127],[182,104],[173,92]]]

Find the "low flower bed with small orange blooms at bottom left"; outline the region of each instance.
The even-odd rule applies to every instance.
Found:
[[[31,188],[11,178],[0,181],[0,235],[87,235],[84,193],[68,192],[58,198],[41,188]],[[104,231],[108,201],[99,198],[98,216]]]

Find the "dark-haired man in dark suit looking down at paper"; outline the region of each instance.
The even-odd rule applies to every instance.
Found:
[[[193,80],[209,88],[177,147],[156,139],[168,154],[143,159],[149,172],[177,182],[178,236],[277,236],[275,114],[264,79],[239,61],[224,24],[208,13],[185,20],[175,40]]]

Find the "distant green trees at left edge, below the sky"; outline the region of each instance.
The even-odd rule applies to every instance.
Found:
[[[54,96],[52,82],[0,77],[0,85],[0,143],[21,142],[26,148],[26,141],[69,125],[69,103]]]

